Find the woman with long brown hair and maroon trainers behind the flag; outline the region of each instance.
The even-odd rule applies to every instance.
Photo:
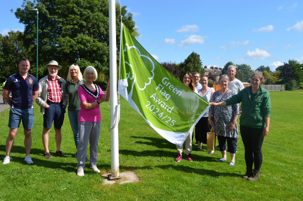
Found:
[[[190,72],[183,73],[183,75],[181,77],[181,82],[183,84],[185,84],[185,86],[187,86],[188,88],[190,88],[191,90],[193,90],[195,93],[198,94],[197,89],[195,89],[194,79]],[[184,142],[185,143],[185,152],[187,153],[186,159],[191,162],[192,162],[192,158],[191,158],[192,132],[193,131],[191,131],[191,133],[187,136],[187,138],[185,139],[185,142]],[[175,161],[180,162],[180,160],[182,159],[183,144],[181,146],[177,145],[177,151],[178,151],[178,155],[175,158]]]

